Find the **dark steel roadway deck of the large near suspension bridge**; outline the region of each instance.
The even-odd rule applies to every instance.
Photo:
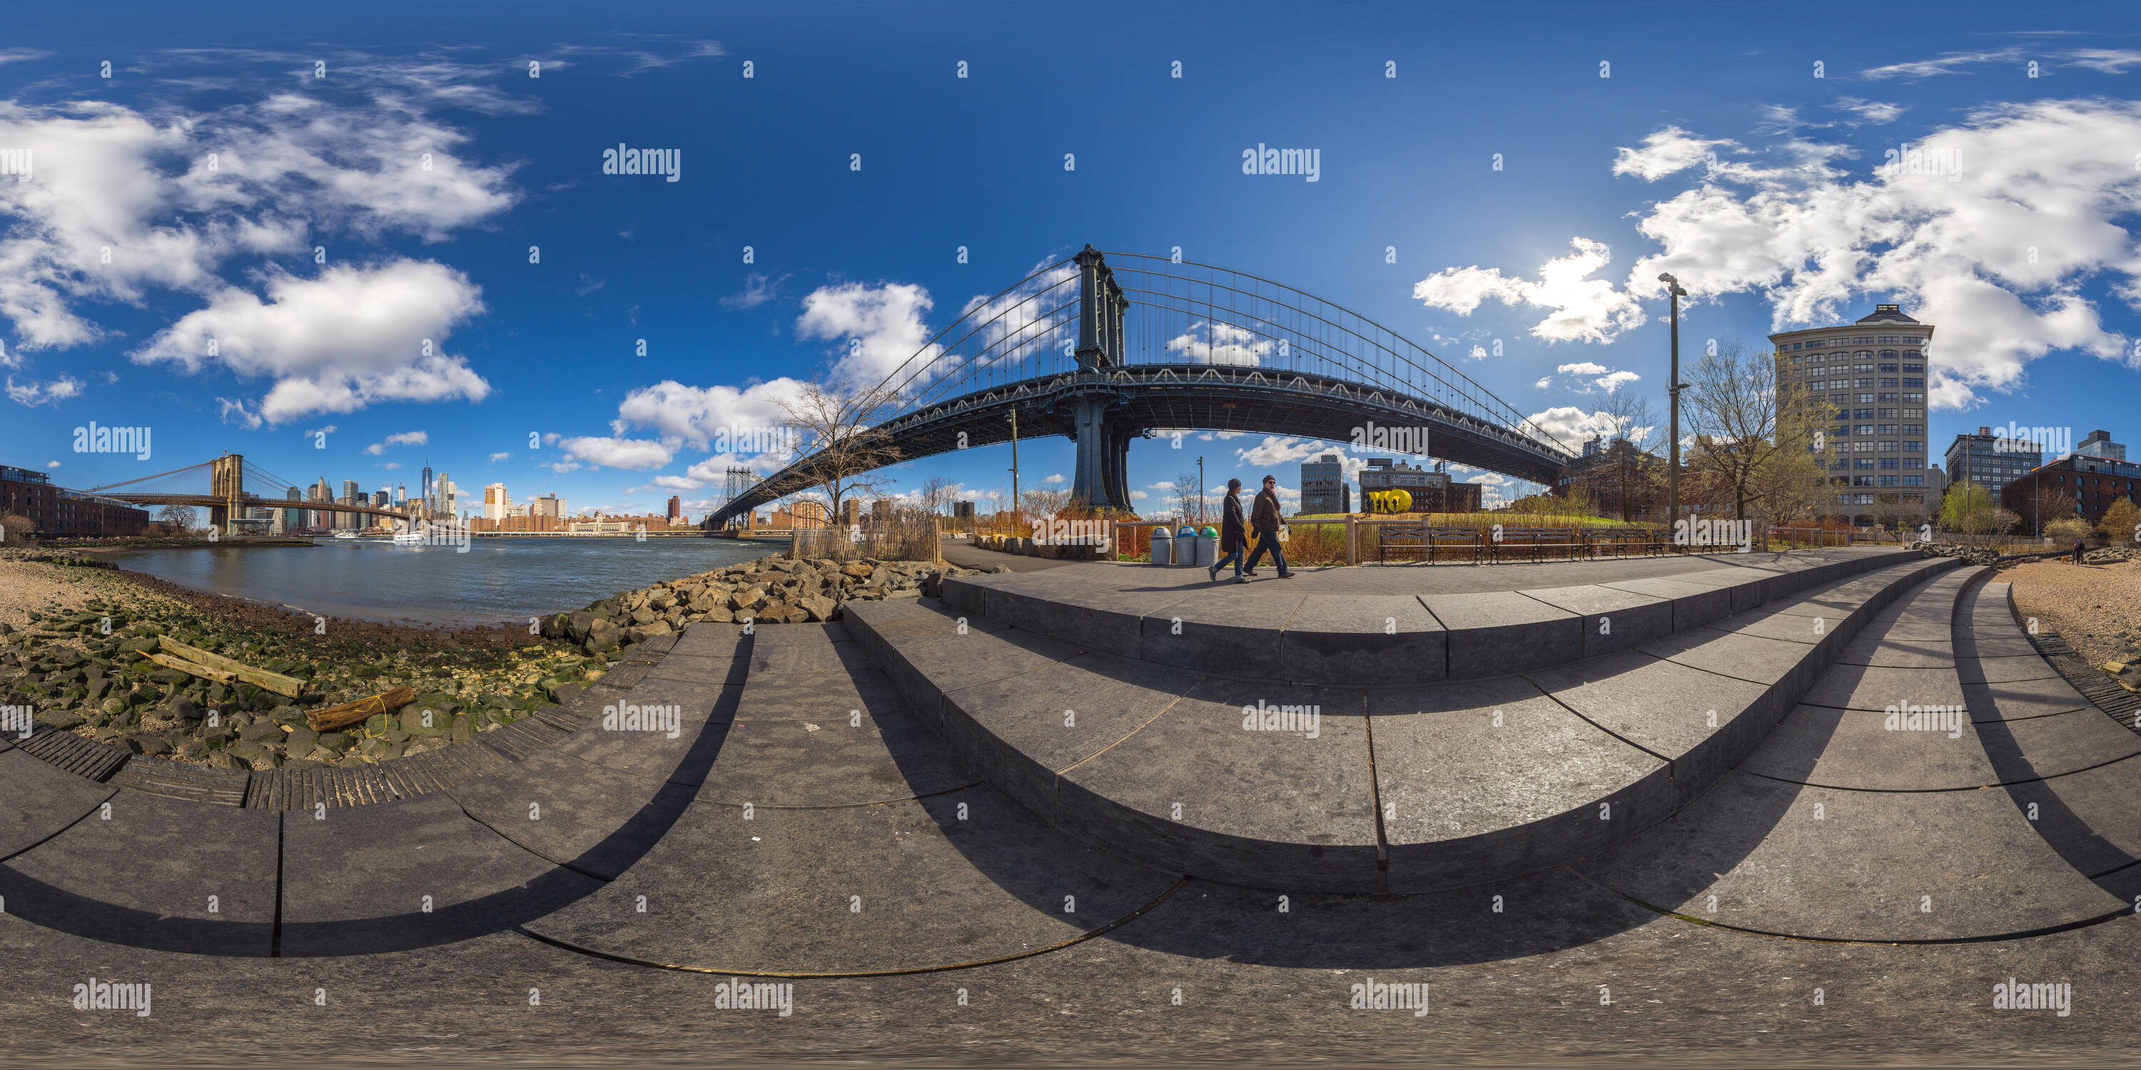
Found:
[[[1225,381],[1203,379],[1208,372]],[[1255,368],[1137,366],[1133,379],[1077,374],[1041,379],[970,394],[886,424],[901,460],[1000,445],[1011,441],[1011,413],[1019,439],[1062,434],[1079,443],[1075,492],[1094,505],[1128,509],[1126,456],[1133,439],[1154,430],[1235,430],[1353,441],[1366,426],[1428,428],[1437,460],[1552,486],[1563,458],[1546,445],[1512,441],[1434,402],[1379,394],[1375,387],[1308,372],[1270,372],[1265,383],[1244,383]],[[1171,374],[1167,374],[1171,372]],[[1295,385],[1300,383],[1300,385]],[[1081,434],[1081,426],[1098,434]],[[773,473],[728,509],[743,511],[781,494],[816,486],[811,458]],[[1261,475],[1261,473],[1259,473]],[[1248,484],[1250,479],[1244,479]],[[713,522],[726,522],[728,509]]]

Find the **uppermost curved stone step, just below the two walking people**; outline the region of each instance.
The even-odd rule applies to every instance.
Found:
[[[1203,569],[1079,565],[944,580],[944,601],[1085,651],[1289,683],[1469,681],[1625,651],[1869,569],[1905,550],[1576,561],[1492,569],[1300,569],[1208,582]],[[1524,569],[1524,571],[1520,571]],[[1552,569],[1552,571],[1544,571]],[[1574,586],[1507,588],[1518,576]]]

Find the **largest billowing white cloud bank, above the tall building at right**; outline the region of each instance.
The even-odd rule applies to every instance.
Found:
[[[1908,146],[1935,163],[1933,173],[1884,158],[1856,178],[1841,169],[1848,146],[1786,139],[1771,150],[1775,160],[1760,163],[1762,154],[1736,143],[1666,128],[1644,150],[1623,150],[1614,169],[1657,180],[1704,167],[1691,188],[1638,214],[1638,231],[1661,253],[1638,259],[1623,291],[1595,306],[1661,295],[1659,272],[1679,276],[1691,302],[1766,297],[1773,330],[1846,323],[1873,302],[1897,300],[1940,332],[1935,409],[1968,409],[1983,389],[2017,389],[2025,366],[2055,349],[2141,368],[2141,353],[2105,327],[2083,293],[2102,280],[2141,308],[2141,255],[2126,227],[2141,203],[2141,171],[2126,148],[2135,143],[2141,103],[1991,105]],[[1717,146],[1756,163],[1706,167]],[[1629,163],[1631,154],[1642,163]],[[1524,282],[1477,268],[1428,282],[1437,280],[1430,304],[1452,310],[1471,308],[1467,293],[1527,293]],[[1593,319],[1591,338],[1636,323]]]

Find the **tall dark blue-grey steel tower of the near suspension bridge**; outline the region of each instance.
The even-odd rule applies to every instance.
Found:
[[[1090,244],[1075,257],[1079,270],[1079,317],[1077,317],[1077,372],[1092,377],[1092,392],[1073,402],[1073,437],[1077,439],[1077,467],[1070,479],[1070,499],[1092,507],[1128,509],[1130,439],[1141,430],[1124,426],[1111,417],[1115,409],[1113,389],[1100,379],[1111,368],[1126,362],[1122,340],[1122,319],[1130,308],[1130,297],[1115,282],[1115,272],[1107,268],[1100,250]]]

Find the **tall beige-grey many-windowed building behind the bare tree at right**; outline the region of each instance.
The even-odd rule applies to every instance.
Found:
[[[1925,379],[1933,325],[1876,304],[1856,323],[1771,334],[1777,394],[1798,396],[1822,432],[1824,516],[1873,522],[1923,514]],[[1950,469],[1950,477],[1959,477]]]

